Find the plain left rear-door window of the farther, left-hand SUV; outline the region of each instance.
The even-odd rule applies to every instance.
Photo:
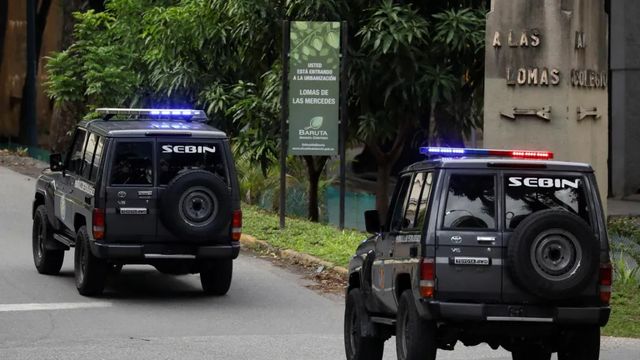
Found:
[[[153,185],[153,143],[119,142],[111,165],[111,185]]]

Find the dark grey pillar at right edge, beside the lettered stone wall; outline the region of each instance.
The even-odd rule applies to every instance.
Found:
[[[611,191],[640,190],[640,2],[611,2]]]

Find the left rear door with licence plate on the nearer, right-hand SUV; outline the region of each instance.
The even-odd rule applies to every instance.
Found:
[[[502,235],[495,174],[446,173],[436,231],[438,299],[499,301],[502,291]]]

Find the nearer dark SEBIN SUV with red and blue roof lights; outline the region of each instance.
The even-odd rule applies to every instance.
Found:
[[[347,359],[433,360],[460,341],[514,360],[598,359],[610,314],[605,216],[591,166],[548,152],[423,148],[384,225],[349,264]],[[502,156],[509,156],[504,158]]]

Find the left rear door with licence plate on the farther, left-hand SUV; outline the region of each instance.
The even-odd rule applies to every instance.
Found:
[[[105,239],[153,242],[156,237],[157,189],[154,139],[118,139],[111,143],[107,176]]]

